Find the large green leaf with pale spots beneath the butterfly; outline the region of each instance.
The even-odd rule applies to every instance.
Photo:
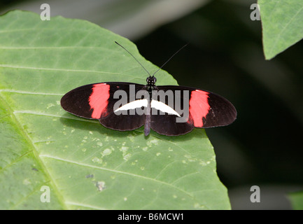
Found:
[[[0,18],[0,209],[230,209],[204,130],[119,132],[66,113],[88,83],[146,83],[136,46],[83,20],[12,11]],[[157,84],[176,85],[167,72]],[[50,188],[50,202],[42,186]],[[42,195],[45,194],[45,195]]]

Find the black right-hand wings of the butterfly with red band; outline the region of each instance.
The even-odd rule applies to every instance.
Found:
[[[156,88],[158,92],[161,90],[164,92],[165,98],[162,97],[161,100],[161,97],[156,97],[155,100],[162,101],[166,105],[170,104],[170,107],[174,107],[173,109],[178,113],[178,115],[172,113],[160,115],[160,111],[169,111],[161,109],[160,106],[157,113],[152,113],[150,127],[159,134],[176,136],[186,134],[194,127],[230,125],[237,118],[234,106],[218,94],[175,85],[162,85]],[[169,91],[174,94],[173,102],[169,100],[167,94]],[[178,105],[179,109],[176,108]]]

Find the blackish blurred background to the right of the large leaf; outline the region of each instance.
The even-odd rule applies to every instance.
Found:
[[[14,3],[20,1],[0,6]],[[131,40],[157,66],[189,43],[164,70],[179,85],[216,92],[236,107],[232,125],[206,130],[232,208],[291,209],[285,195],[303,183],[303,45],[266,61],[261,22],[251,20],[251,11],[250,4],[209,1]],[[259,204],[249,200],[255,185]]]

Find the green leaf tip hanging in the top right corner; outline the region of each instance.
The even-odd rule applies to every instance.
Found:
[[[272,59],[303,38],[303,1],[259,0],[258,4],[265,58]]]

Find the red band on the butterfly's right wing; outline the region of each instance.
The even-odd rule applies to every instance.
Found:
[[[203,127],[203,120],[209,113],[209,92],[202,90],[192,91],[190,96],[190,114],[195,127]]]

